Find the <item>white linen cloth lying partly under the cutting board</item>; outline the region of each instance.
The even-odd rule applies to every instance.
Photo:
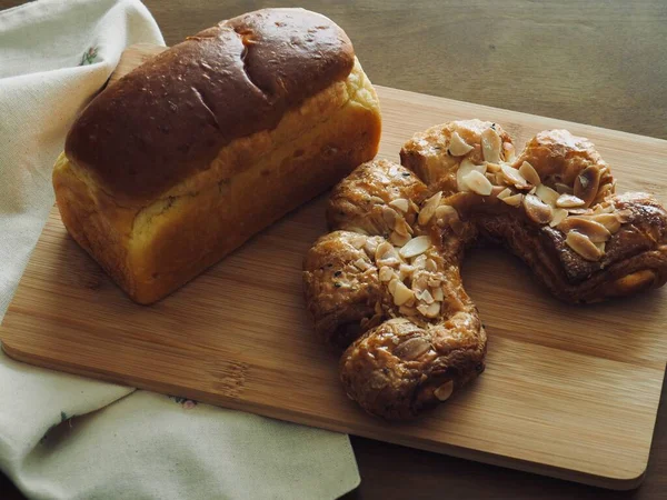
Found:
[[[122,49],[138,42],[163,44],[137,0],[40,0],[0,12],[0,319],[53,203],[64,134]],[[44,499],[316,499],[359,483],[345,434],[3,353],[0,469]]]

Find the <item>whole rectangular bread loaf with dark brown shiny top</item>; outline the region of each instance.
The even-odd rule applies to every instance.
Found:
[[[53,171],[73,239],[137,302],[169,294],[377,153],[346,33],[302,9],[201,31],[94,98]]]

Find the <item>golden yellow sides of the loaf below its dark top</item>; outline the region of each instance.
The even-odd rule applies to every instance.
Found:
[[[272,129],[231,140],[159,196],[110,192],[64,153],[53,188],[73,239],[135,301],[150,303],[372,158],[380,128],[377,94],[354,59],[342,80],[287,109]],[[155,170],[167,142],[153,144],[142,170]]]

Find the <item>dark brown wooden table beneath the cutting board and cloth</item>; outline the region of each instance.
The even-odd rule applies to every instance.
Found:
[[[0,9],[19,3],[0,0]],[[281,0],[145,3],[168,44],[217,20],[268,6],[296,4]],[[664,0],[306,0],[300,4],[344,27],[375,83],[667,139]],[[663,391],[646,480],[635,491],[609,492],[352,438],[362,481],[347,498],[667,499],[666,400]],[[0,496],[22,498],[2,477]]]

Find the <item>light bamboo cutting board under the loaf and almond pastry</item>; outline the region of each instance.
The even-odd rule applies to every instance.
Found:
[[[150,54],[129,49],[117,74]],[[590,138],[618,190],[667,201],[667,142],[378,87],[380,157],[454,119],[501,123],[520,144],[539,130]],[[436,411],[389,424],[338,382],[315,338],[301,260],[326,231],[325,198],[257,236],[171,297],[132,303],[68,237],[54,208],[0,327],[30,363],[212,404],[614,489],[646,469],[667,359],[667,288],[593,307],[557,302],[499,250],[464,269],[489,334],[486,372]]]

